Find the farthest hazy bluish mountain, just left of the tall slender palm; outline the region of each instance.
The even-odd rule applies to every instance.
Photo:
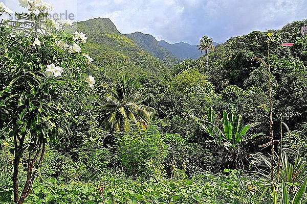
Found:
[[[160,40],[158,42],[161,46],[168,49],[174,56],[183,60],[183,59],[198,59],[201,57],[200,52],[197,50],[196,45],[190,45],[186,42],[179,42],[175,44],[169,44],[165,40]],[[216,46],[216,42],[213,42],[213,45]]]

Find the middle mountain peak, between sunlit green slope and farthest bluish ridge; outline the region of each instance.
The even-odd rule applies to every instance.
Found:
[[[141,49],[161,59],[166,66],[175,65],[180,62],[167,48],[161,46],[152,35],[136,32],[126,34],[125,36],[133,40]]]

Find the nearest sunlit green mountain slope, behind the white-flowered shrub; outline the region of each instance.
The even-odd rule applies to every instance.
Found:
[[[94,59],[94,65],[107,74],[120,72],[139,74],[162,74],[169,70],[165,62],[146,53],[125,35],[121,34],[108,18],[95,18],[75,22],[79,32],[86,33],[87,50]]]

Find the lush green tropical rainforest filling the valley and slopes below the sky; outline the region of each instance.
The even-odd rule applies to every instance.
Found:
[[[189,59],[21,6],[35,26],[0,24],[0,203],[307,203],[305,22]]]

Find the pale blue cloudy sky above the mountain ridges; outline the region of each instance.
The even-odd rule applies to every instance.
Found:
[[[110,18],[119,32],[142,32],[169,43],[199,44],[206,35],[222,43],[252,31],[281,29],[307,19],[307,0],[45,0],[51,13],[73,14],[73,21]],[[0,0],[25,11],[18,0]],[[72,15],[71,15],[72,16]]]

